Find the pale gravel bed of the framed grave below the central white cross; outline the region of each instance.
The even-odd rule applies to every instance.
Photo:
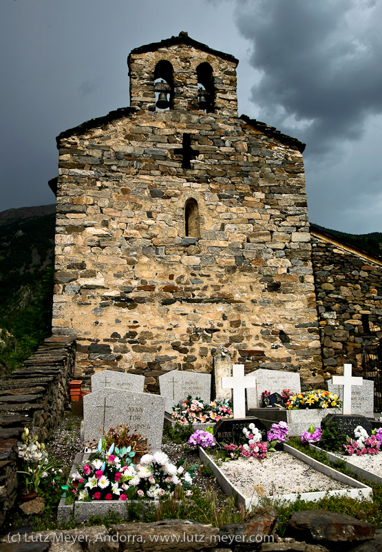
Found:
[[[248,498],[351,488],[283,451],[271,453],[264,460],[239,458],[224,462],[219,468]]]

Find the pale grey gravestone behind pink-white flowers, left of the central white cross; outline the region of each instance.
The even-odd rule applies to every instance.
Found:
[[[160,395],[166,400],[165,409],[172,413],[173,406],[187,399],[200,397],[204,404],[211,401],[211,374],[172,370],[158,377]]]

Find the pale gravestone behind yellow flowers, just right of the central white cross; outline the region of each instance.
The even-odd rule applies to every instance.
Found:
[[[301,392],[300,376],[296,372],[259,368],[259,370],[249,373],[248,376],[254,377],[256,382],[255,388],[248,389],[246,392],[248,409],[259,408],[263,391],[282,393],[284,389],[290,389],[293,393]]]

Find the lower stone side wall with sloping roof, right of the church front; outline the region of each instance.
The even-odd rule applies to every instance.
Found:
[[[361,371],[363,345],[382,337],[382,260],[315,230],[312,261],[326,377]]]

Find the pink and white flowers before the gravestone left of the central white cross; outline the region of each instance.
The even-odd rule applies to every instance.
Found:
[[[218,422],[221,418],[233,417],[231,401],[220,400],[204,404],[200,397],[193,399],[191,395],[187,399],[173,406],[172,419],[181,425],[209,424]]]

